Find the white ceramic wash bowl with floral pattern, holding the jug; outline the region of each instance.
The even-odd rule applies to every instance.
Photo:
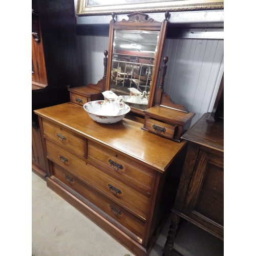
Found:
[[[98,123],[117,123],[131,110],[130,106],[124,103],[123,109],[117,115],[102,115],[101,108],[103,103],[104,100],[89,101],[83,105],[83,109]]]

